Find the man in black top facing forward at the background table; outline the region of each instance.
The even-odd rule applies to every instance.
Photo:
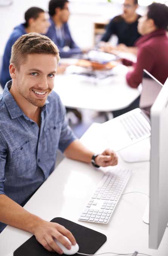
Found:
[[[119,44],[117,50],[126,50],[127,47],[133,47],[134,42],[140,37],[137,31],[138,19],[140,18],[140,15],[136,13],[137,7],[137,0],[125,0],[123,14],[114,17],[109,22],[101,41],[108,42],[111,36],[115,34],[118,37]]]

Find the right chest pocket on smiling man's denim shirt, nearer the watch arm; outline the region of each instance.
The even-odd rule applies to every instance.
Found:
[[[47,152],[49,155],[55,155],[59,146],[62,123],[53,124],[45,127],[45,136]]]

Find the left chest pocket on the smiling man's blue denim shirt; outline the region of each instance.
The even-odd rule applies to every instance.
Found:
[[[26,141],[25,144],[12,153],[11,173],[23,176],[31,170],[31,165],[30,142]]]

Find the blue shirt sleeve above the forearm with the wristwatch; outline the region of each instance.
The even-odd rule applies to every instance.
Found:
[[[62,119],[62,129],[59,140],[59,149],[64,152],[65,149],[71,144],[77,137],[72,132],[71,128],[68,125],[68,121],[66,119],[66,110],[65,107],[61,104],[63,119]]]

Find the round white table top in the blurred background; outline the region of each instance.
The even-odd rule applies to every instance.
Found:
[[[114,71],[115,76],[96,85],[86,82],[80,75],[57,75],[54,90],[66,107],[99,112],[119,110],[128,107],[140,95],[140,91],[127,85],[126,66],[119,65]]]

